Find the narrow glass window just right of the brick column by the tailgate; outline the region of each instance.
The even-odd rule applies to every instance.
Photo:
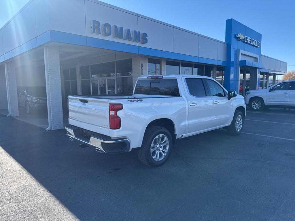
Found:
[[[76,67],[63,69],[63,81],[65,85],[65,100],[68,95],[77,95],[77,72]]]

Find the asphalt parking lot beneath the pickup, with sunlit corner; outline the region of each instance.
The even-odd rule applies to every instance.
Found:
[[[0,125],[0,220],[295,220],[295,110],[249,110],[240,136],[178,140],[158,168],[81,149],[65,130]]]

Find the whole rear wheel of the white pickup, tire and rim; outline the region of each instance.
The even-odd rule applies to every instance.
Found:
[[[164,164],[171,153],[172,138],[170,132],[160,126],[148,127],[142,146],[137,150],[140,161],[150,167]]]

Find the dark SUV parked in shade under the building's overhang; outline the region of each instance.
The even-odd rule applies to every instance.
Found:
[[[17,87],[19,107],[25,107],[27,114],[32,109],[47,107],[46,87],[19,86]]]

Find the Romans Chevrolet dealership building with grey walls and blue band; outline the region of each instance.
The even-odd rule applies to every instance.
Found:
[[[260,33],[224,22],[225,42],[96,0],[30,0],[0,29],[0,113],[36,124],[18,88],[44,86],[38,126],[55,130],[68,95],[131,94],[140,76],[205,75],[244,95],[286,74],[286,62],[261,55]]]

